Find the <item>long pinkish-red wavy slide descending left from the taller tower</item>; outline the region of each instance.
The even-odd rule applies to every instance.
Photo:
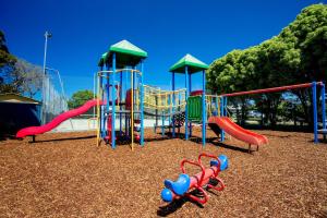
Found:
[[[60,116],[56,117],[51,122],[49,122],[47,124],[44,124],[40,126],[24,128],[17,132],[16,137],[25,137],[28,135],[38,135],[38,134],[48,132],[48,131],[57,128],[63,121],[86,112],[89,108],[95,107],[97,105],[97,101],[98,101],[97,99],[88,100],[80,108],[61,113]],[[100,101],[100,105],[102,105],[102,101]]]

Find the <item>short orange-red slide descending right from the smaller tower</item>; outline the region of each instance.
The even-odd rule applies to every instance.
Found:
[[[232,122],[227,117],[210,117],[208,120],[208,124],[211,129],[214,128],[215,130],[217,129],[217,126],[215,125],[218,125],[229,135],[252,145],[263,145],[268,143],[268,138],[266,136],[245,130]]]

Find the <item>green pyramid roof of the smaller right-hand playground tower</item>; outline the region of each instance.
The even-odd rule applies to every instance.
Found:
[[[179,60],[175,64],[173,64],[169,71],[177,73],[185,73],[185,66],[189,66],[189,73],[196,73],[198,71],[207,70],[209,66],[202,62],[201,60],[194,58],[190,53],[184,56],[181,60]]]

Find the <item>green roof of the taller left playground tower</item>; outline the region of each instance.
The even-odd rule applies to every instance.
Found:
[[[105,62],[112,65],[112,53],[116,52],[117,68],[125,65],[136,65],[142,59],[147,57],[147,52],[134,46],[128,40],[121,40],[109,48],[109,52],[105,58]]]

